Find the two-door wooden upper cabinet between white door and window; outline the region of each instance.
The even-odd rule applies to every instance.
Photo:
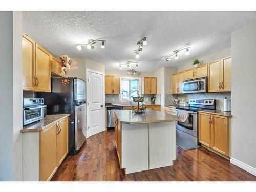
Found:
[[[105,94],[120,94],[120,77],[105,75]]]

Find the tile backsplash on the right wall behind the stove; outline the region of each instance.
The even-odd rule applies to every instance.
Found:
[[[178,99],[181,102],[188,102],[189,99],[216,99],[216,109],[223,110],[223,101],[227,97],[231,99],[231,92],[221,93],[191,93],[191,94],[179,94]]]

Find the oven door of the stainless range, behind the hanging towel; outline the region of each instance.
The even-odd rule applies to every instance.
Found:
[[[175,112],[177,116],[179,115],[179,111],[184,111],[184,110],[176,110]],[[189,113],[188,123],[177,121],[176,129],[183,131],[189,135],[198,137],[197,112],[188,111],[188,113]]]

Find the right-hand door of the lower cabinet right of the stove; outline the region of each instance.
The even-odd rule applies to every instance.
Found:
[[[211,148],[228,155],[228,117],[211,115]]]

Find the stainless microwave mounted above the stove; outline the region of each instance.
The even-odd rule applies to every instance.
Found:
[[[182,93],[206,93],[207,77],[185,80],[182,82]]]

